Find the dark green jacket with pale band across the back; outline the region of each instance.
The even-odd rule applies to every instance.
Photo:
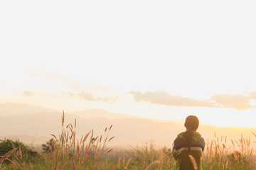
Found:
[[[181,132],[178,134],[178,137],[174,140],[172,155],[177,161],[176,170],[194,170],[191,158],[188,155],[191,155],[195,159],[198,170],[201,170],[201,156],[205,147],[205,141],[199,132],[192,131],[191,147],[188,148],[186,139],[183,137],[184,133]]]

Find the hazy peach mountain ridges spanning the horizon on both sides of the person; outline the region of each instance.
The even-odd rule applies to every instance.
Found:
[[[13,105],[14,107],[14,105]],[[24,111],[25,112],[25,111]],[[2,113],[0,112],[0,116]],[[24,139],[36,138],[50,139],[50,134],[58,135],[61,130],[61,111],[52,113],[18,113],[16,115],[0,117],[0,137],[26,135]],[[117,117],[115,117],[117,115]],[[171,123],[166,120],[150,120],[118,113],[109,113],[104,110],[90,109],[85,111],[65,113],[65,125],[77,120],[78,137],[85,135],[90,130],[94,130],[95,136],[104,136],[105,128],[113,125],[110,130],[110,137],[115,136],[110,145],[141,145],[142,142],[154,140],[156,145],[166,145],[171,147],[176,135],[183,132],[185,128],[181,124]],[[229,139],[238,140],[243,134],[244,137],[252,137],[252,141],[256,137],[252,132],[256,132],[256,128],[219,128],[212,125],[200,125],[198,132],[201,132],[206,140],[213,139],[214,134],[220,138],[223,135]],[[255,139],[255,140],[254,140]],[[22,139],[21,139],[22,141]],[[27,142],[27,140],[26,140]],[[33,141],[31,141],[33,142]]]

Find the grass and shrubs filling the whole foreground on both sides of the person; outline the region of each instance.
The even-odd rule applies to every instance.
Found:
[[[0,169],[175,169],[175,160],[171,157],[171,149],[156,149],[153,142],[132,147],[118,153],[107,147],[114,137],[109,137],[112,128],[105,128],[105,135],[93,136],[93,130],[80,139],[76,138],[76,121],[64,125],[60,135],[52,135],[53,139],[42,145],[43,152],[33,152],[22,142],[0,141]],[[256,169],[250,139],[233,141],[228,147],[223,137],[214,137],[206,142],[203,152],[203,169]]]

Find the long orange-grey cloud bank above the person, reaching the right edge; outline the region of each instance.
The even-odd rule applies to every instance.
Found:
[[[130,94],[136,102],[146,101],[165,106],[235,108],[238,111],[255,108],[250,104],[250,100],[256,98],[256,91],[246,93],[247,95],[215,94],[207,100],[171,95],[166,91],[146,91],[145,93],[130,91]]]

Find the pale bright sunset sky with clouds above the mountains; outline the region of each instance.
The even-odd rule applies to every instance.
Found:
[[[0,103],[256,127],[255,1],[0,1]]]

